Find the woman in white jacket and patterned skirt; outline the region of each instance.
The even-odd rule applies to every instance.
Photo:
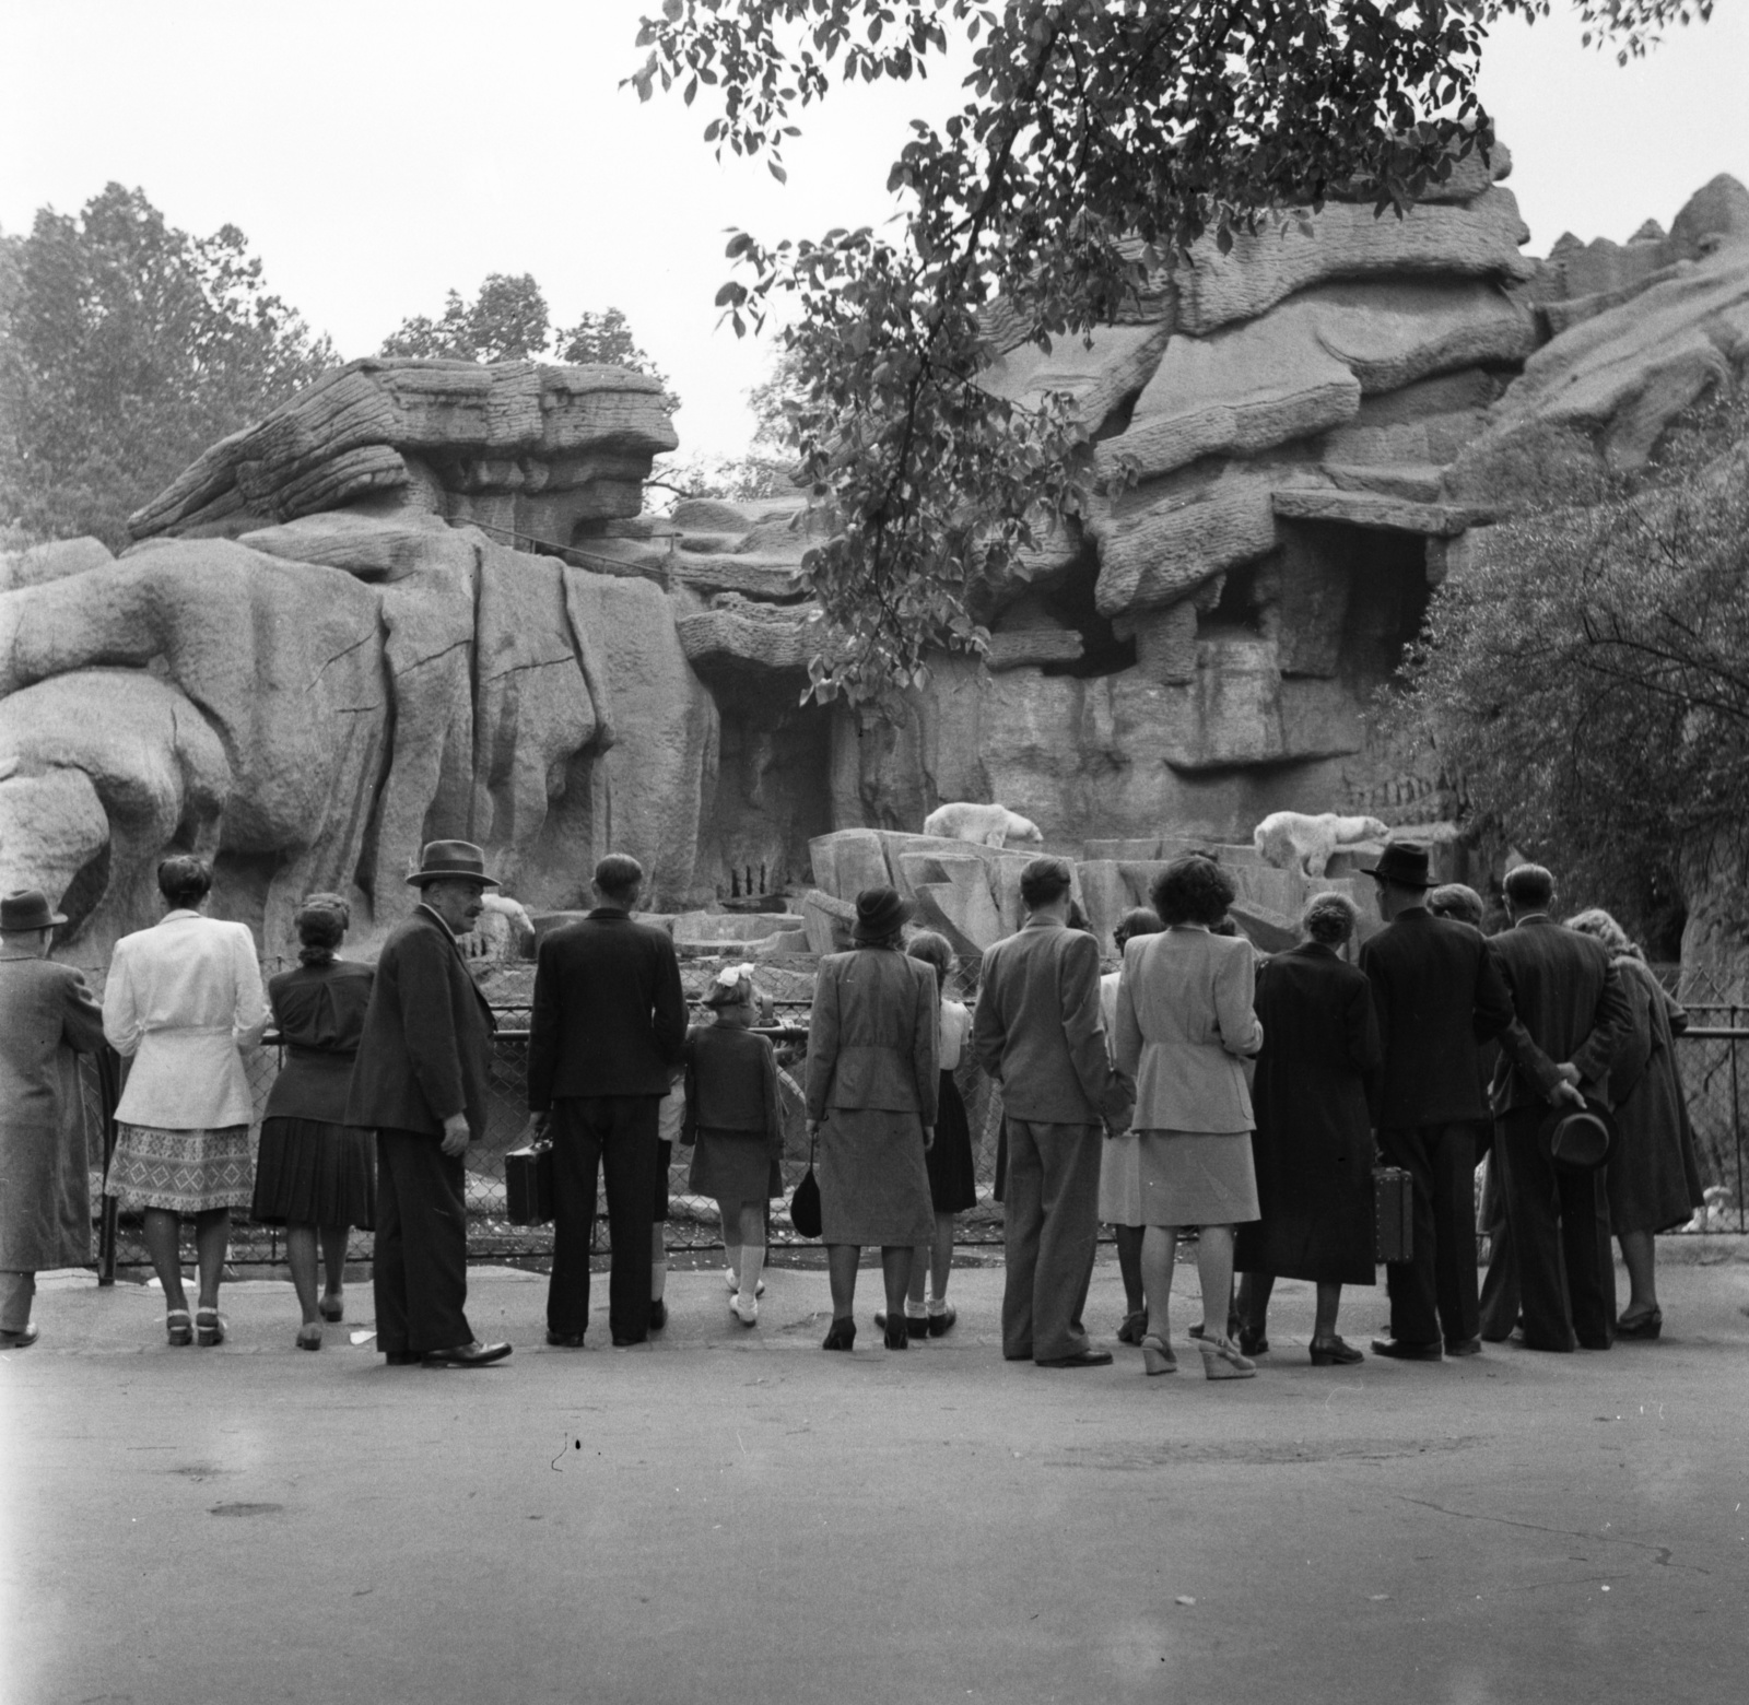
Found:
[[[212,881],[205,859],[164,859],[157,867],[164,916],[115,943],[103,988],[103,1033],[133,1060],[115,1105],[115,1156],[103,1194],[145,1210],[145,1247],[164,1287],[173,1345],[196,1331],[203,1345],[224,1341],[219,1275],[231,1208],[247,1208],[252,1194],[254,1105],[241,1056],[268,1028],[248,925],[201,916]],[[184,1214],[194,1219],[201,1270],[192,1329],[178,1249]]]

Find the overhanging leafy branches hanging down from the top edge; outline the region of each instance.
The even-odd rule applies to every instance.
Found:
[[[967,100],[913,124],[888,187],[897,236],[735,233],[717,303],[736,332],[784,306],[801,400],[794,446],[840,532],[810,558],[831,630],[820,696],[880,696],[930,645],[978,647],[969,610],[1086,488],[1063,399],[992,397],[981,311],[1007,299],[1049,348],[1114,320],[1205,233],[1333,192],[1401,212],[1494,143],[1476,100],[1487,24],[1548,0],[665,0],[630,82],[717,103],[705,142],[782,180],[799,110],[840,80],[922,77],[972,44]],[[1588,23],[1644,51],[1704,5],[1588,0]],[[712,93],[714,91],[714,93]]]

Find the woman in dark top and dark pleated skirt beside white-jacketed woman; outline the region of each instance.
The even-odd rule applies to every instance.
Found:
[[[301,964],[268,985],[285,1061],[261,1121],[250,1212],[264,1226],[285,1226],[285,1259],[304,1313],[301,1350],[320,1350],[322,1322],[345,1312],[348,1228],[376,1228],[371,1133],[345,1123],[346,1086],[376,976],[369,965],[334,957],[350,922],[338,894],[311,894],[297,913]],[[320,1299],[317,1238],[327,1268]]]

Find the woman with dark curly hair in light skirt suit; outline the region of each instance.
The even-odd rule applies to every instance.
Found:
[[[1210,934],[1233,902],[1233,883],[1210,859],[1174,859],[1149,897],[1167,925],[1132,937],[1118,983],[1118,1068],[1135,1082],[1140,1170],[1142,1291],[1147,1373],[1172,1373],[1167,1303],[1179,1228],[1200,1226],[1203,1336],[1210,1380],[1247,1380],[1256,1364],[1226,1336],[1233,1287],[1233,1226],[1258,1217],[1251,1159],[1251,1093],[1244,1060],[1263,1046],[1251,1007],[1252,953],[1244,937]]]

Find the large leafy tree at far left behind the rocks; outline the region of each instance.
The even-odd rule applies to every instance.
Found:
[[[0,523],[24,535],[121,547],[133,509],[336,358],[236,226],[191,236],[140,189],[0,243]]]

